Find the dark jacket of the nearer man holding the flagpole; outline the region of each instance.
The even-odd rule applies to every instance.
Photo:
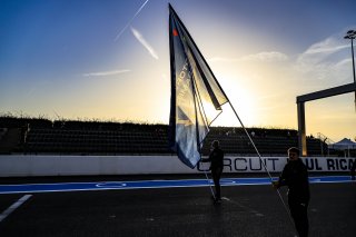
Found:
[[[279,186],[288,186],[288,199],[308,203],[310,199],[307,167],[300,159],[288,161],[279,177]]]

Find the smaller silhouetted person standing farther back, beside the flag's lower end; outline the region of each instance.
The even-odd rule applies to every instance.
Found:
[[[208,159],[202,162],[210,162],[211,176],[215,185],[215,200],[221,200],[220,178],[224,169],[224,151],[220,149],[218,140],[211,142],[211,151]]]

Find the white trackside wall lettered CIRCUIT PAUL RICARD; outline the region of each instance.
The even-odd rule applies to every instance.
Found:
[[[263,157],[267,170],[281,171],[286,157]],[[353,158],[303,158],[309,171],[349,171]],[[258,157],[226,157],[224,172],[263,172]],[[201,165],[201,166],[200,166]],[[196,169],[185,166],[176,156],[0,156],[0,177],[76,176],[76,175],[146,175],[198,174],[209,164]]]

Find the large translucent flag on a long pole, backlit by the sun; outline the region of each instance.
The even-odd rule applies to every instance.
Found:
[[[220,85],[177,13],[169,4],[171,102],[169,146],[195,168],[209,126],[228,102]]]

